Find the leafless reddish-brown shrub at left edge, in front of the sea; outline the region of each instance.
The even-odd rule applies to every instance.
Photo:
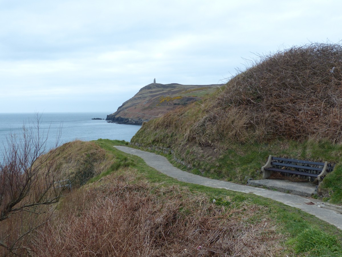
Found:
[[[34,126],[23,127],[22,135],[11,134],[0,163],[0,253],[21,255],[27,251],[31,233],[47,222],[53,204],[64,187],[57,187],[61,171],[54,151],[47,152],[47,136]],[[57,143],[58,144],[58,140]]]

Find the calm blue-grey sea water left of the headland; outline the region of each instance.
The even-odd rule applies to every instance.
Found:
[[[75,139],[84,141],[103,139],[118,139],[130,141],[140,129],[138,125],[125,125],[108,123],[105,120],[92,120],[92,118],[106,119],[109,112],[68,112],[68,113],[42,113],[40,117],[40,133],[48,133],[47,147],[55,146],[56,137],[61,127],[60,144]],[[3,143],[6,145],[6,136],[9,133],[21,135],[22,127],[36,123],[35,113],[0,113],[0,150]]]

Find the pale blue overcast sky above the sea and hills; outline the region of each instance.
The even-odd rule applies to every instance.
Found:
[[[0,112],[113,113],[153,83],[220,84],[340,43],[342,1],[0,0]]]

